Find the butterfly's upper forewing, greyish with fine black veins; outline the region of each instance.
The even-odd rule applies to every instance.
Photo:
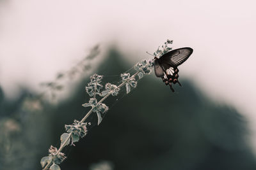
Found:
[[[159,62],[161,64],[169,64],[170,66],[177,67],[183,62],[185,62],[191,55],[191,53],[193,53],[192,48],[178,48],[168,53],[164,53],[164,55],[162,55],[162,57],[159,58]]]

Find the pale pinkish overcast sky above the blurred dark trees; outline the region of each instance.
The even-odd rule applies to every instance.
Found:
[[[116,43],[136,62],[173,39],[174,48],[194,49],[180,74],[248,117],[256,148],[255,6],[255,0],[1,0],[0,85],[8,97],[20,83],[36,89],[96,43],[103,51]]]

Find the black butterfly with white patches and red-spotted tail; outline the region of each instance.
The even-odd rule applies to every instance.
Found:
[[[184,47],[164,53],[159,59],[155,57],[155,74],[157,77],[161,77],[166,85],[170,85],[172,92],[174,92],[172,83],[179,83],[181,86],[177,67],[186,61],[191,53],[193,53],[192,48]]]

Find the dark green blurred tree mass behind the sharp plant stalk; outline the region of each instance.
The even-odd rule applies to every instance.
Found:
[[[109,50],[97,73],[111,75],[129,69],[122,56],[115,48]],[[109,67],[113,63],[115,67]],[[103,80],[113,82],[116,76]],[[79,78],[73,93],[58,104],[38,104],[29,89],[22,90],[18,99],[6,99],[0,88],[0,169],[40,169],[38,160],[48,145],[58,143],[56,134],[61,134],[63,124],[80,118],[86,110],[79,103],[84,101],[81,89],[88,81]],[[104,160],[113,164],[112,169],[122,170],[256,169],[246,117],[232,106],[214,103],[191,81],[181,81],[183,87],[171,93],[158,78],[145,76],[132,97],[122,97],[125,87],[117,97],[108,97],[109,107],[118,99],[111,113],[100,127],[93,127],[96,113],[88,117],[91,133],[75,143],[77,148],[65,146],[68,160],[61,170],[88,170]]]

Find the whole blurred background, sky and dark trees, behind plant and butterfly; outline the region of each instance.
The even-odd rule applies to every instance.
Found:
[[[0,169],[41,169],[104,83],[166,39],[190,46],[175,93],[145,76],[67,154],[61,169],[255,169],[255,2],[0,1]],[[95,120],[95,115],[90,119]]]

